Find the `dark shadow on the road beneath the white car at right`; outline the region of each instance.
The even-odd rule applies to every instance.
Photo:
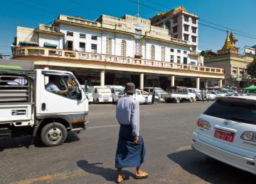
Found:
[[[178,163],[183,170],[208,183],[244,183],[245,180],[256,178],[252,173],[212,159],[194,149],[179,151],[167,156]]]

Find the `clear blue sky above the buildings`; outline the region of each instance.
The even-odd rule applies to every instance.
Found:
[[[36,28],[38,23],[50,23],[60,13],[70,16],[79,15],[90,20],[95,20],[102,13],[117,17],[124,14],[136,15],[137,4],[132,1],[137,0],[1,0],[0,53],[11,52],[10,45],[16,35],[17,25]],[[142,18],[151,18],[159,13],[159,10],[169,11],[183,5],[191,13],[198,14],[202,20],[225,27],[218,27],[221,30],[215,30],[199,25],[200,50],[220,49],[226,37],[223,31],[226,28],[234,30],[234,33],[238,33],[235,32],[238,30],[243,32],[240,34],[252,37],[236,35],[237,46],[240,47],[241,52],[245,45],[256,45],[255,0],[139,0],[139,2],[152,7],[140,6]],[[200,22],[206,24],[206,22]]]

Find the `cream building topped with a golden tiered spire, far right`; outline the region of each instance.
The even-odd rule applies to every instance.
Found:
[[[227,86],[247,87],[255,84],[246,72],[247,64],[253,62],[254,58],[250,54],[240,55],[239,48],[235,47],[238,39],[231,32],[227,32],[227,38],[218,53],[206,52],[205,64],[208,67],[221,67],[225,69],[225,79],[223,84]]]

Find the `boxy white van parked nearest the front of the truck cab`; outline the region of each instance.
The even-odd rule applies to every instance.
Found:
[[[90,86],[94,103],[112,102],[112,94],[107,86]]]

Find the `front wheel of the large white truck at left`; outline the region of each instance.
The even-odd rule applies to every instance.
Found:
[[[46,146],[58,146],[65,142],[68,132],[59,122],[45,125],[41,131],[41,140]]]

